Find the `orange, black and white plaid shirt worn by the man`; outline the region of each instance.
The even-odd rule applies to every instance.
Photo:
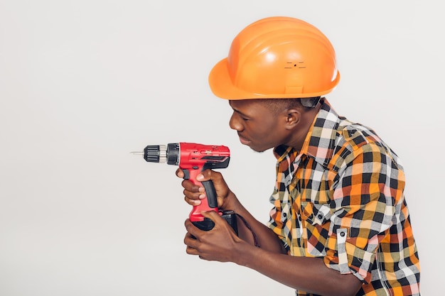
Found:
[[[301,151],[279,146],[274,154],[267,225],[289,255],[353,273],[363,282],[357,295],[420,295],[403,168],[374,131],[338,116],[325,100]]]

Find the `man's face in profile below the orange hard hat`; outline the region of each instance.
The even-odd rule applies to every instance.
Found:
[[[263,152],[286,142],[286,116],[267,108],[261,99],[231,100],[230,128],[237,131],[240,142]]]

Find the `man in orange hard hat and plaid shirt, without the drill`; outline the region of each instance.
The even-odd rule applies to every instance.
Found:
[[[220,172],[205,170],[197,180],[212,180],[218,207],[245,223],[237,235],[214,211],[203,213],[215,222],[210,231],[186,220],[187,253],[252,268],[296,295],[420,295],[402,165],[374,131],[323,97],[339,78],[331,43],[309,23],[264,18],[236,36],[210,88],[229,100],[242,144],[274,148],[274,207],[262,224]],[[205,198],[202,187],[182,184],[189,204]]]

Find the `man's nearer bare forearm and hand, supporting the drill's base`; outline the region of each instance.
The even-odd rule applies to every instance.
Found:
[[[187,220],[188,233],[184,243],[188,254],[208,261],[233,262],[257,270],[294,289],[318,295],[355,295],[362,285],[355,275],[341,275],[326,267],[322,258],[289,256],[266,248],[257,248],[236,236],[216,212],[205,212],[203,215],[212,219],[215,227],[211,231],[202,231]],[[260,241],[269,238],[261,234],[263,232],[258,235]]]

